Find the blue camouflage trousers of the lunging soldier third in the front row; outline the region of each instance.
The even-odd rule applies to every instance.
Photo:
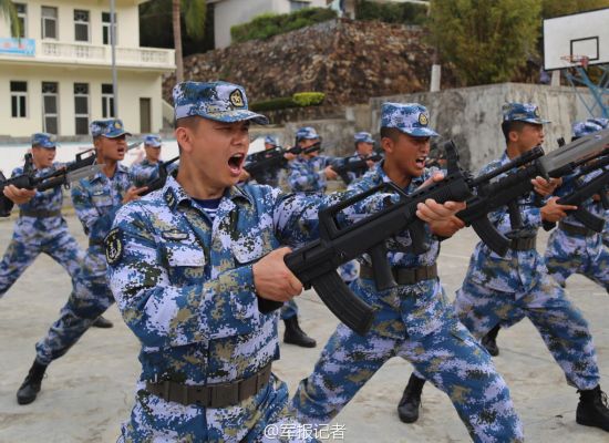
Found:
[[[540,274],[531,289],[515,292],[489,289],[466,277],[456,293],[455,311],[477,339],[497,323],[510,326],[527,317],[570,385],[579,390],[598,385],[597,356],[588,322],[548,274]]]

